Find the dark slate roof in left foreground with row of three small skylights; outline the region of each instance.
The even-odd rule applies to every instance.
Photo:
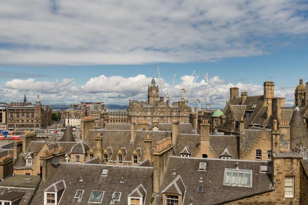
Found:
[[[107,176],[101,176],[103,169],[108,169]],[[120,201],[115,204],[127,204],[128,195],[140,184],[146,190],[145,204],[150,204],[152,197],[152,167],[133,167],[102,164],[60,163],[57,168],[52,168],[46,182],[39,187],[32,204],[41,204],[44,199],[44,190],[60,179],[66,184],[61,205],[88,204],[92,190],[104,191],[100,204],[108,204],[115,191],[121,192]],[[80,176],[83,179],[80,181]],[[124,183],[120,183],[121,177]],[[77,189],[84,190],[80,202],[74,198]]]

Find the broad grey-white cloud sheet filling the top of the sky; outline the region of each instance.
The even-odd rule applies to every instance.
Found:
[[[88,65],[261,55],[306,38],[307,7],[293,0],[3,0],[0,59]]]

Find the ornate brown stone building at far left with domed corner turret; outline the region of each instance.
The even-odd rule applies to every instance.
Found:
[[[7,108],[8,130],[43,129],[50,123],[51,108],[42,106],[39,95],[35,105],[9,106]]]

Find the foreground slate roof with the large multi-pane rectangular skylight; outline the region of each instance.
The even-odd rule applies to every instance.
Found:
[[[206,171],[198,171],[199,163],[206,163]],[[252,170],[252,187],[236,187],[224,185],[225,168]],[[164,172],[160,194],[155,204],[162,204],[162,191],[176,177],[180,175],[186,187],[183,204],[216,204],[232,199],[271,191],[272,176],[269,173],[260,173],[260,166],[270,166],[267,161],[237,160],[237,159],[209,159],[169,156]],[[172,175],[176,169],[176,175]],[[202,177],[203,182],[198,182]],[[203,192],[197,192],[198,186],[203,186]]]

